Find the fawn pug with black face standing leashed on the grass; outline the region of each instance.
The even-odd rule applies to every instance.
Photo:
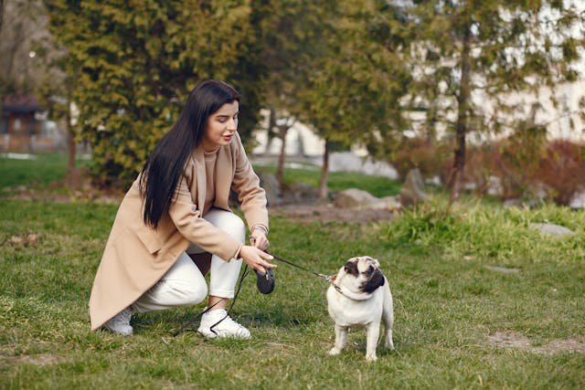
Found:
[[[330,355],[336,355],[344,348],[350,327],[362,325],[367,329],[366,360],[376,361],[381,320],[386,328],[384,345],[394,349],[392,294],[377,259],[368,256],[348,259],[331,280],[327,306],[335,322],[335,345],[329,351]]]

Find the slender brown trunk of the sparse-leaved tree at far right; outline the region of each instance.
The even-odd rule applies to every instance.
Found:
[[[463,181],[463,173],[465,168],[465,134],[467,133],[467,114],[469,111],[469,99],[471,96],[471,66],[469,58],[471,33],[469,26],[465,28],[463,33],[463,47],[461,53],[461,83],[459,85],[458,101],[458,116],[456,131],[457,146],[454,152],[454,160],[451,174],[451,195],[449,196],[450,205],[459,198],[461,186]]]

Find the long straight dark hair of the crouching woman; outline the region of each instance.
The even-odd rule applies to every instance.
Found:
[[[171,205],[186,161],[201,143],[209,115],[234,100],[239,101],[238,91],[214,79],[201,82],[191,91],[179,119],[156,143],[154,152],[144,164],[140,190],[146,225],[158,227]]]

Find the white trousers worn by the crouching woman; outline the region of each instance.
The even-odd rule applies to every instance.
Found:
[[[204,218],[229,236],[244,242],[246,227],[239,216],[226,210],[212,208]],[[207,283],[197,265],[188,254],[205,253],[205,250],[191,244],[177,258],[175,264],[150,290],[136,300],[133,311],[160,311],[179,306],[192,306],[207,297]],[[216,255],[211,256],[209,269],[209,295],[220,298],[233,298],[238,282],[241,258],[225,261]]]

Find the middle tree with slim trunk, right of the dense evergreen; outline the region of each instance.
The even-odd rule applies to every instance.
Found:
[[[335,146],[376,144],[384,134],[403,127],[399,99],[410,74],[398,34],[378,37],[376,3],[331,2],[320,11],[310,59],[313,71],[301,100],[303,119],[325,140],[319,184],[319,195],[325,198],[329,154]]]

